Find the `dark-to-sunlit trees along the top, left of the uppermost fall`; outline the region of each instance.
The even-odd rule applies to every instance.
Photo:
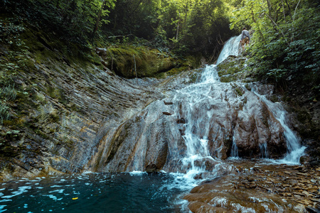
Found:
[[[222,0],[4,0],[0,7],[82,48],[144,38],[156,48],[215,58],[233,33]]]

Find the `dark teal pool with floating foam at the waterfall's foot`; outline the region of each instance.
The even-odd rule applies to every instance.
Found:
[[[0,183],[0,212],[181,212],[191,187],[169,173],[22,178]]]

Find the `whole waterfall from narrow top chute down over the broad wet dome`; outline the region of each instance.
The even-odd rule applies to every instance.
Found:
[[[233,48],[238,39],[225,43],[223,58],[238,54]],[[164,82],[164,88],[174,85],[166,89],[165,99],[150,103],[103,138],[89,165],[93,172],[154,168],[191,180],[217,173],[230,156],[279,158],[286,147],[283,162],[299,163],[304,147],[287,126],[281,104],[253,86],[249,90],[241,82],[220,82],[216,65],[207,65],[195,84],[184,86],[181,79]],[[261,88],[272,90],[267,85],[256,90]]]

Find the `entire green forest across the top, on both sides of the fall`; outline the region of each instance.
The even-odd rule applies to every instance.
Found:
[[[281,82],[319,72],[314,0],[4,0],[0,6],[1,42],[11,46],[23,45],[17,35],[28,22],[84,54],[97,46],[146,45],[214,62],[223,43],[245,26],[254,32],[248,51],[264,78]]]

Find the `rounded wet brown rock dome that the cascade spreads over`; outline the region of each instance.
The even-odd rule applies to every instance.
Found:
[[[201,138],[207,141],[210,153],[201,153],[203,148],[198,145],[193,147],[196,153],[220,159],[230,156],[233,142],[240,157],[260,158],[265,155],[263,144],[271,157],[286,153],[282,125],[260,97],[243,89],[242,84],[217,82],[200,87],[200,92],[191,85],[152,102],[110,132],[100,141],[90,170],[144,170],[153,162],[160,170],[186,172],[191,166],[181,165],[181,159],[188,155],[186,141]],[[237,92],[239,88],[241,94]],[[265,93],[270,90],[265,85],[257,89]],[[157,163],[159,160],[165,163]]]

